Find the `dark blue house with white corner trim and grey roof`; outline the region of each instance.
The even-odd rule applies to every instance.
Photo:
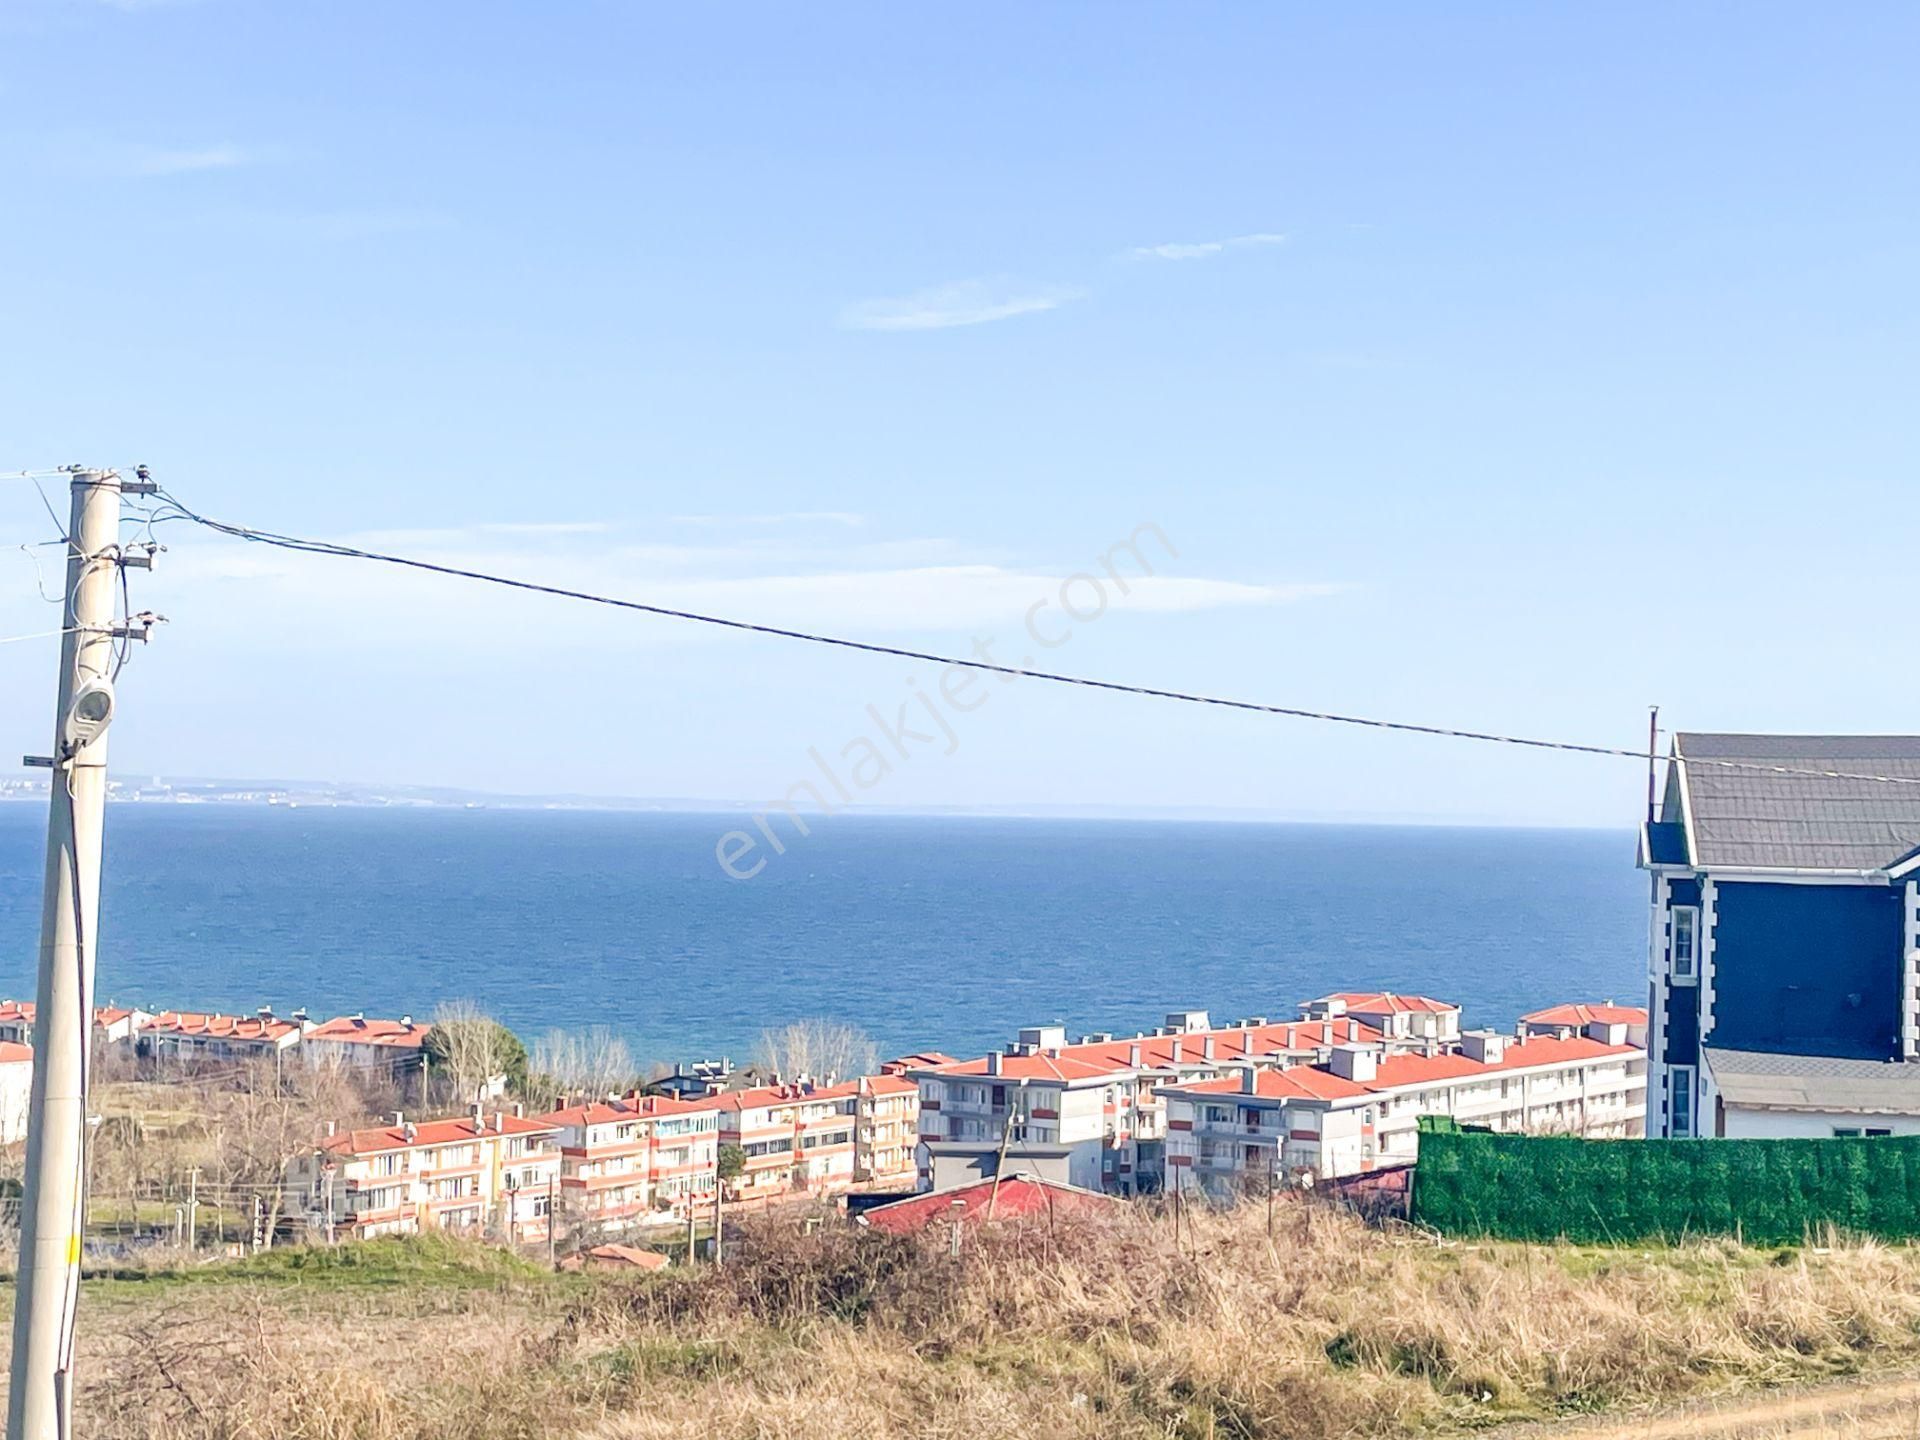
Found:
[[[1674,737],[1647,1135],[1920,1133],[1920,737]]]

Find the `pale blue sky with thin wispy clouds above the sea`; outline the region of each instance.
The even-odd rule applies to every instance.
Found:
[[[1905,732],[1916,48],[1874,4],[12,0],[0,470],[1283,705]],[[1148,522],[1177,557],[1023,641]],[[0,634],[48,626],[46,532],[0,480]],[[165,540],[121,770],[751,803],[937,684]],[[50,678],[0,647],[17,751]],[[1644,785],[1025,682],[954,733],[858,799],[1630,824]]]

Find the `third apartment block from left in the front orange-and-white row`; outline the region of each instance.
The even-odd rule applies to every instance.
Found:
[[[747,1156],[730,1188],[733,1200],[852,1187],[860,1081],[758,1085],[714,1100],[720,1104],[720,1144],[737,1144]]]

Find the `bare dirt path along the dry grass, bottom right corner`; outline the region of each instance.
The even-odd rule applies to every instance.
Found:
[[[1920,1379],[1853,1380],[1816,1390],[1736,1396],[1716,1404],[1498,1432],[1523,1440],[1920,1440]]]

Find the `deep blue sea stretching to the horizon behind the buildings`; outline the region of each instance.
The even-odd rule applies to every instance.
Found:
[[[0,993],[33,995],[46,816],[0,804]],[[1611,831],[835,816],[751,881],[716,814],[117,804],[100,996],[428,1014],[636,1056],[751,1052],[803,1016],[889,1052],[1173,1008],[1290,1016],[1425,991],[1507,1025],[1644,991],[1645,887]]]

